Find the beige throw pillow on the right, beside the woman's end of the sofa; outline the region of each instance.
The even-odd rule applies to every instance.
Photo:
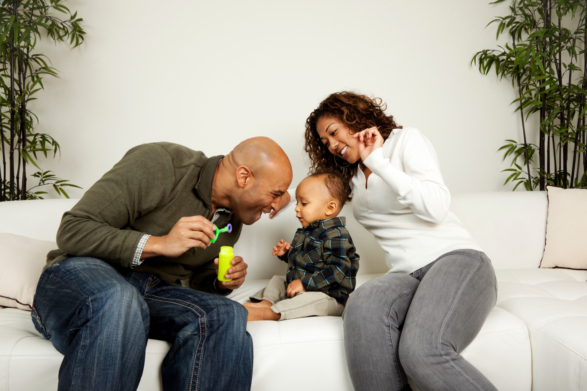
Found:
[[[546,245],[540,267],[587,269],[587,189],[546,186]]]

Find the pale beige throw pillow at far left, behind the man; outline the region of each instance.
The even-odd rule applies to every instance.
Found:
[[[56,248],[48,240],[0,233],[0,305],[31,310],[47,253]]]

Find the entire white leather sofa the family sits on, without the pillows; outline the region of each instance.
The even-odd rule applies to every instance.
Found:
[[[0,202],[0,232],[55,240],[60,216],[75,202]],[[271,248],[298,228],[293,209],[291,203],[274,220],[263,216],[244,227],[235,254],[247,261],[249,273],[232,299],[245,302],[269,278],[285,274],[285,263],[271,256]],[[498,278],[497,305],[463,351],[465,358],[501,391],[587,390],[587,271],[538,268],[545,192],[457,194],[451,210],[485,249]],[[350,205],[342,215],[360,254],[357,283],[384,273],[382,250],[353,219]],[[253,390],[353,389],[342,318],[251,322],[248,331],[254,340]],[[159,368],[168,346],[149,340],[139,390],[161,390]],[[35,331],[29,311],[0,308],[0,391],[55,390],[61,360]]]

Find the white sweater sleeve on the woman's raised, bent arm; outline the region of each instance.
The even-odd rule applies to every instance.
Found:
[[[400,154],[406,172],[391,164],[383,148],[371,152],[363,164],[382,178],[414,215],[433,223],[443,222],[448,215],[450,192],[444,185],[432,144],[417,129],[406,130],[400,142],[395,153]]]

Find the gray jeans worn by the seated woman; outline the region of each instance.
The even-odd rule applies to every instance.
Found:
[[[497,391],[460,355],[496,298],[491,261],[477,250],[451,251],[410,275],[361,285],[343,313],[355,390],[401,390],[407,373],[423,391]]]

